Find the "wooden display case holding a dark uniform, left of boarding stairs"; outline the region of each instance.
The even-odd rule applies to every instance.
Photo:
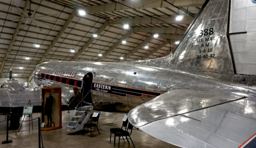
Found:
[[[61,87],[44,87],[42,89],[42,130],[53,130],[62,127]]]

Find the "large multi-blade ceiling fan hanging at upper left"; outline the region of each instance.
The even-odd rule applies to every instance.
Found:
[[[29,21],[32,21],[32,23],[33,23],[34,25],[36,25],[37,28],[39,28],[39,29],[42,31],[42,29],[37,25],[37,23],[43,23],[43,24],[45,24],[45,25],[47,25],[47,26],[50,26],[50,27],[52,27],[52,26],[49,25],[49,24],[47,24],[47,23],[42,22],[42,21],[50,21],[50,20],[41,19],[41,18],[42,18],[42,17],[46,17],[46,16],[58,15],[58,14],[51,14],[51,15],[43,15],[43,16],[37,16],[37,17],[35,17],[35,14],[36,14],[36,12],[38,11],[38,9],[40,8],[40,6],[37,6],[36,10],[35,10],[33,13],[31,13],[31,0],[29,0],[29,12],[28,12],[27,14],[26,14],[24,11],[22,11],[22,10],[15,4],[15,2],[13,2],[12,4],[15,5],[15,6],[23,13],[23,15],[18,14],[18,15],[21,16],[21,17],[18,17],[19,20],[15,20],[15,21],[11,21],[11,22],[18,22],[18,21],[21,21],[21,20],[25,20],[26,23],[24,24],[24,27],[28,24]],[[15,14],[17,14],[17,13],[15,13]],[[50,21],[50,22],[57,22],[57,21]],[[58,23],[62,23],[62,22],[58,22]],[[24,29],[24,28],[22,28],[22,29]]]

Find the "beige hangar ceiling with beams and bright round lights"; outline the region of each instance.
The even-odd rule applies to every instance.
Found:
[[[30,81],[36,65],[46,61],[118,62],[165,56],[204,2],[0,0],[1,77],[8,77],[12,68],[13,77]],[[183,19],[177,21],[177,16]]]

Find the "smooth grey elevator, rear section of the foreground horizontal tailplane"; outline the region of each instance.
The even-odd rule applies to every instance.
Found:
[[[140,129],[182,148],[256,148],[256,99],[168,117]]]

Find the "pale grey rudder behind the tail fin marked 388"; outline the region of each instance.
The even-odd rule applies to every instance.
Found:
[[[230,44],[237,74],[256,75],[256,0],[231,0]]]

